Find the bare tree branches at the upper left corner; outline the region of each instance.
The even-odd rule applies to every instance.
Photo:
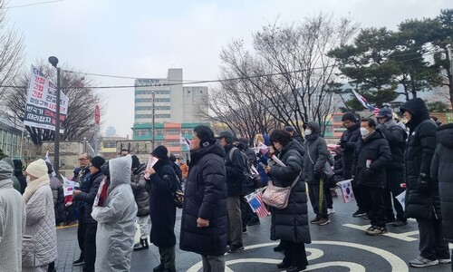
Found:
[[[0,99],[6,87],[14,84],[14,78],[24,63],[24,38],[17,30],[6,27],[5,1],[0,0]]]

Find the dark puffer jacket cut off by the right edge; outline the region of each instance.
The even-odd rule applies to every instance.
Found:
[[[432,182],[439,180],[440,208],[444,239],[453,242],[453,123],[436,132],[438,146],[432,158]]]

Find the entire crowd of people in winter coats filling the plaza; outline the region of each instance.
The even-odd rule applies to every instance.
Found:
[[[365,233],[379,236],[386,226],[417,219],[419,256],[412,267],[450,263],[453,242],[453,124],[439,125],[425,103],[389,108],[376,118],[342,115],[345,131],[327,145],[320,125],[304,123],[304,138],[294,127],[257,134],[252,141],[232,131],[218,136],[207,126],[193,131],[190,160],[158,146],[152,165],[121,150],[104,160],[79,156],[73,181],[63,197],[52,165],[35,160],[22,170],[20,160],[0,160],[0,271],[55,271],[55,226],[77,220],[81,255],[73,266],[83,271],[129,271],[133,250],[159,248],[154,272],[177,271],[175,235],[178,191],[184,191],[179,248],[201,256],[203,271],[225,271],[225,254],[244,250],[247,226],[260,224],[245,196],[255,189],[291,187],[284,209],[271,212],[270,239],[284,258],[276,267],[302,271],[310,224],[331,223],[333,188],[351,180],[357,201],[353,217],[369,219]],[[252,149],[255,147],[255,149]],[[262,149],[260,147],[265,147]],[[255,171],[254,171],[255,170]],[[396,199],[405,193],[405,205]],[[308,199],[314,218],[308,218]],[[180,200],[180,199],[179,199]],[[149,226],[150,220],[150,226]],[[134,237],[140,238],[134,244]],[[453,254],[453,252],[452,252]],[[453,267],[452,267],[453,270]]]

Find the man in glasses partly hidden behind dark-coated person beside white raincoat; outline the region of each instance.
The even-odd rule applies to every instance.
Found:
[[[92,160],[92,156],[88,155],[87,153],[82,153],[79,156],[79,166],[80,172],[77,176],[77,182],[79,182],[79,187],[82,192],[88,193],[90,191],[90,182],[88,181],[90,178],[90,163]],[[76,207],[76,212],[78,215],[78,222],[79,225],[77,226],[77,241],[79,242],[79,248],[81,248],[81,255],[78,259],[72,262],[73,266],[83,266],[85,263],[85,203],[83,201],[75,201],[73,199]]]

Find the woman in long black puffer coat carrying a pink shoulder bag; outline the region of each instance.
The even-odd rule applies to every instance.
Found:
[[[271,133],[271,142],[282,160],[284,167],[278,164],[265,167],[277,187],[291,186],[293,189],[285,209],[272,208],[271,239],[281,239],[284,247],[284,259],[277,265],[288,272],[302,271],[308,266],[304,243],[311,243],[307,217],[307,195],[302,172],[304,150],[301,145],[291,140],[287,131],[275,130]]]

